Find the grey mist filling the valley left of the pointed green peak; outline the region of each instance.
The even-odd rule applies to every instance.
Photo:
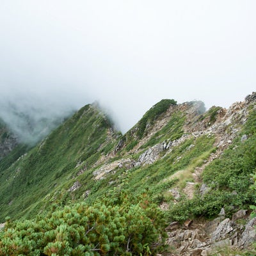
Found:
[[[35,145],[71,116],[76,108],[47,102],[42,97],[14,95],[1,100],[0,117],[20,143]]]

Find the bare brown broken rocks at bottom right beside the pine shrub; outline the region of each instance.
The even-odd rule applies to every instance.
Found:
[[[241,222],[246,224],[241,225]],[[223,220],[223,217],[196,223],[188,220],[184,225],[175,221],[166,227],[168,234],[166,243],[175,247],[176,253],[173,255],[183,256],[213,255],[225,246],[237,250],[248,249],[256,241],[255,225],[256,218],[250,220],[245,210],[236,212],[232,220],[229,218]]]

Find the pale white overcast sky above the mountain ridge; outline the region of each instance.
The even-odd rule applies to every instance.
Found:
[[[99,100],[123,132],[161,99],[227,108],[256,89],[255,13],[255,0],[1,0],[0,100],[49,113]]]

